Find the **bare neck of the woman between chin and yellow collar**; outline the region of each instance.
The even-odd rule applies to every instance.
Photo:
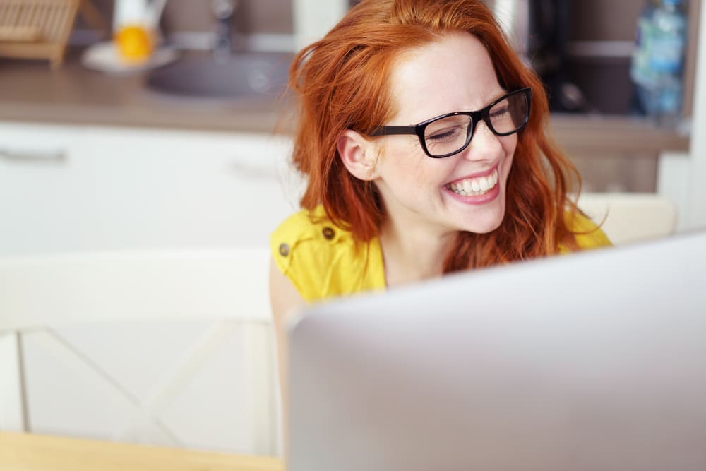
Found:
[[[443,261],[453,247],[457,232],[434,233],[429,227],[400,227],[386,221],[380,231],[380,244],[388,286],[438,278]]]

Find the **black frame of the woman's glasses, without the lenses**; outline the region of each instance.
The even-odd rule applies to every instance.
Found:
[[[514,95],[524,95],[525,99],[527,100],[527,114],[525,115],[525,120],[522,121],[522,124],[520,126],[517,126],[516,129],[513,129],[513,131],[508,131],[506,133],[498,133],[495,128],[493,128],[493,124],[491,123],[490,119],[490,110],[492,107],[497,105],[499,102],[506,100],[508,97],[514,96]],[[442,159],[443,157],[450,157],[452,155],[456,155],[457,153],[462,152],[465,148],[468,147],[469,143],[471,143],[471,139],[473,138],[473,133],[476,131],[476,124],[479,121],[484,121],[486,126],[488,126],[488,129],[491,130],[493,134],[496,136],[510,136],[510,134],[514,134],[517,131],[520,131],[520,129],[525,127],[525,124],[527,124],[527,121],[530,120],[530,107],[532,105],[532,88],[526,87],[526,88],[520,88],[519,90],[515,90],[513,92],[510,92],[506,95],[503,95],[502,97],[498,98],[498,100],[495,100],[492,102],[490,105],[486,106],[483,109],[479,109],[478,111],[460,111],[460,112],[451,112],[451,113],[446,113],[446,114],[441,114],[441,116],[433,117],[431,119],[427,119],[426,121],[422,121],[419,124],[414,124],[412,126],[383,126],[376,131],[373,131],[370,133],[370,136],[393,136],[393,135],[398,135],[398,134],[416,134],[417,137],[419,137],[419,144],[421,145],[421,148],[424,150],[424,153],[426,155],[429,155],[429,157],[433,159]],[[426,126],[429,126],[429,124],[433,123],[434,121],[438,121],[439,119],[444,119],[448,118],[450,116],[459,116],[459,115],[465,115],[471,117],[471,122],[469,124],[469,131],[466,136],[466,142],[465,144],[458,150],[453,151],[452,153],[444,154],[444,155],[431,155],[429,152],[429,149],[426,148],[426,139],[424,138],[424,131],[426,131]]]

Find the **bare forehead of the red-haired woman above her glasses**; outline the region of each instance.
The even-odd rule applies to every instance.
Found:
[[[400,125],[480,109],[503,94],[487,49],[467,32],[403,53],[390,85],[397,111],[390,124]]]

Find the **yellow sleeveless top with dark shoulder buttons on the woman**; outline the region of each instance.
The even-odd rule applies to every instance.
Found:
[[[322,206],[287,217],[270,237],[272,256],[301,297],[312,302],[343,294],[385,289],[380,241],[357,242],[328,221]],[[587,217],[567,221],[581,250],[610,246],[606,234]],[[312,222],[312,220],[322,222]],[[559,246],[559,253],[570,250]]]

